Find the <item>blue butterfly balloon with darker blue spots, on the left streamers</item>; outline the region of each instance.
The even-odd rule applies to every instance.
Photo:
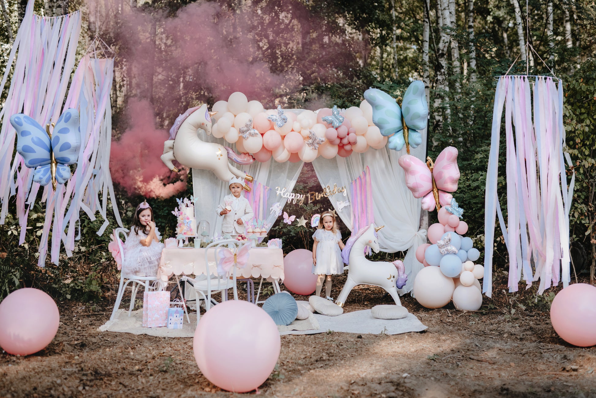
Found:
[[[17,152],[27,167],[35,169],[33,181],[42,186],[52,181],[54,190],[56,184],[66,183],[71,176],[69,165],[79,158],[79,112],[73,108],[65,110],[52,132],[49,125],[44,129],[23,113],[11,116],[10,124],[17,131]]]

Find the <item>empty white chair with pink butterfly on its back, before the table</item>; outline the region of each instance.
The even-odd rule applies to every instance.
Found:
[[[228,289],[232,289],[234,291],[234,300],[238,300],[238,291],[236,289],[236,263],[232,266],[232,279],[229,279],[229,274],[225,275],[218,275],[217,266],[219,264],[219,251],[222,249],[230,249],[234,254],[238,251],[240,246],[242,246],[244,242],[240,242],[239,240],[235,239],[225,239],[225,240],[218,240],[216,242],[210,243],[205,248],[205,272],[207,277],[203,278],[191,278],[189,276],[183,276],[181,278],[182,281],[190,282],[195,291],[197,292],[197,323],[200,317],[200,308],[198,306],[199,300],[205,301],[205,310],[208,311],[212,305],[212,298],[213,294],[221,293],[221,301],[225,301],[227,299],[227,292]],[[215,264],[213,262],[209,262],[208,254],[209,250],[213,249],[215,251]],[[211,269],[210,267],[215,266],[215,269]],[[212,276],[213,273],[213,276]],[[213,278],[213,279],[212,279]]]

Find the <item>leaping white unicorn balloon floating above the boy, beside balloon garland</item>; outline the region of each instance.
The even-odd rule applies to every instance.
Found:
[[[172,171],[178,169],[173,160],[182,165],[212,171],[226,183],[233,177],[240,177],[252,182],[253,177],[238,170],[228,162],[228,158],[241,164],[249,165],[254,161],[248,154],[238,155],[231,148],[216,143],[206,143],[197,136],[197,129],[203,129],[211,135],[211,116],[217,112],[209,112],[206,104],[188,109],[178,116],[170,129],[170,139],[164,142],[162,161]],[[244,184],[244,189],[250,191]]]

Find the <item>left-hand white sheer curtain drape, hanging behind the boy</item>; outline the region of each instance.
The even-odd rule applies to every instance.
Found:
[[[234,144],[227,143],[223,138],[215,138],[213,135],[207,135],[202,130],[199,130],[197,134],[203,141],[222,144],[236,150]],[[287,188],[287,192],[292,192],[294,185],[298,180],[298,176],[300,175],[300,171],[302,171],[304,162],[278,163],[271,158],[264,163],[255,161],[247,166],[237,165],[235,163],[234,165],[238,169],[242,169],[247,174],[252,175],[254,177],[254,183],[261,183],[271,188],[269,198],[267,203],[263,205],[263,208],[266,209],[266,223],[273,225],[277,219],[277,214],[271,214],[269,209],[275,202],[280,202],[282,208],[285,206],[285,202],[287,202],[286,198],[275,195],[275,187],[285,187]],[[219,203],[223,202],[224,196],[228,194],[228,183],[219,180],[219,178],[215,177],[215,174],[208,170],[193,169],[193,196],[199,198],[194,206],[195,218],[197,219],[197,224],[200,220],[209,222],[209,226],[211,227],[210,237],[212,238],[215,233],[221,234],[222,220],[224,218],[218,217],[215,214],[215,209]]]

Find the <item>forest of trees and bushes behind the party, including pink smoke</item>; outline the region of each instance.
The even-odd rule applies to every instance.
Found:
[[[4,71],[27,2],[0,0],[0,4]],[[125,222],[145,197],[164,236],[173,235],[175,198],[190,196],[193,187],[190,176],[173,174],[159,156],[173,120],[191,106],[203,102],[211,106],[234,91],[260,100],[266,108],[358,106],[369,87],[398,97],[412,79],[420,79],[430,104],[429,156],[434,158],[448,145],[460,151],[456,198],[470,225],[467,235],[482,252],[495,76],[505,74],[513,63],[510,74],[527,70],[563,81],[565,150],[576,172],[570,215],[573,265],[576,273],[591,269],[593,282],[594,1],[45,0],[35,4],[36,14],[42,16],[79,9],[83,12],[79,58],[96,36],[115,53],[110,169]],[[528,51],[529,45],[536,53]],[[6,91],[0,94],[2,106]],[[504,176],[504,159],[500,164],[499,174]],[[567,168],[568,178],[571,173]],[[505,203],[504,182],[499,179],[501,203]],[[320,189],[306,163],[294,190]],[[15,214],[14,203],[11,206]],[[308,208],[288,205],[285,210],[308,218],[328,206],[321,201]],[[44,212],[39,204],[30,211],[32,227],[21,246],[15,217],[9,215],[0,226],[0,297],[27,286],[59,300],[113,300],[117,271],[107,251],[109,234],[95,234],[99,220],[82,216],[82,239],[73,257],[63,255],[58,266],[49,262],[43,269],[36,266]],[[108,231],[116,227],[110,221]],[[346,237],[345,227],[342,231]],[[283,237],[288,252],[311,248],[311,235],[310,229],[278,220],[269,237]],[[495,249],[498,278],[506,275],[508,263],[502,236]]]

